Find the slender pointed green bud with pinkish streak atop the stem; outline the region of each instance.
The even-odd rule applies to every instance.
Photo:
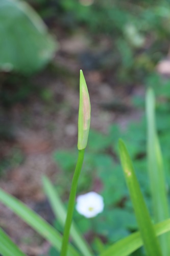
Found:
[[[87,84],[80,70],[80,103],[79,103],[79,120],[78,120],[78,150],[84,150],[87,145],[88,134],[90,129],[90,98]]]

